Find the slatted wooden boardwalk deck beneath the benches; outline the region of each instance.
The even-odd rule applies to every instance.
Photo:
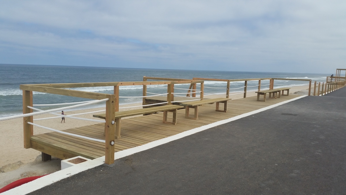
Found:
[[[163,124],[163,113],[125,118],[121,121],[121,138],[115,140],[115,152],[258,110],[298,96],[290,94],[289,96],[281,96],[278,99],[268,98],[266,102],[256,101],[256,96],[231,100],[228,102],[227,113],[216,112],[215,104],[202,105],[199,108],[198,120],[185,118],[185,110],[181,109],[177,111],[177,125]],[[169,113],[170,117],[172,117],[172,113]],[[64,131],[97,139],[105,139],[103,134],[104,124],[102,123]],[[60,159],[69,159],[75,156],[95,159],[104,156],[105,151],[104,143],[55,132],[31,136],[31,148]]]

